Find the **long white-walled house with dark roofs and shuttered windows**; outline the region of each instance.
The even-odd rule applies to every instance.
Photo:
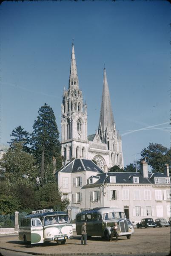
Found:
[[[57,173],[63,198],[68,198],[75,214],[95,207],[122,208],[134,223],[142,218],[171,216],[171,190],[168,166],[164,173],[148,173],[147,163],[141,172],[103,172],[93,161],[74,159]]]

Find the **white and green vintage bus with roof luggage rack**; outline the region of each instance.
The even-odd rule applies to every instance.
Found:
[[[72,238],[72,224],[66,212],[43,209],[26,215],[20,221],[19,239],[25,243],[56,241],[65,244],[66,239]]]

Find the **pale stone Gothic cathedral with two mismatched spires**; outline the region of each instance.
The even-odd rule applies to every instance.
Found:
[[[64,164],[83,158],[94,160],[102,170],[123,167],[122,138],[116,130],[105,68],[98,130],[87,134],[87,105],[79,88],[74,44],[68,90],[64,90],[62,99],[61,154]]]

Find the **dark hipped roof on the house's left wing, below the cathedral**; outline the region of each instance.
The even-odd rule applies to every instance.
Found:
[[[83,171],[103,173],[103,171],[93,161],[82,158],[72,160],[71,162],[60,168],[58,172],[73,173]]]

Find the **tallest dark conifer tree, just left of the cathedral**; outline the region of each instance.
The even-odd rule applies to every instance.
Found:
[[[37,165],[41,169],[41,184],[43,185],[47,182],[47,175],[45,174],[48,172],[48,165],[51,165],[53,157],[61,158],[60,141],[52,108],[45,103],[38,113],[39,115],[34,121],[33,133],[31,134],[31,148],[34,157],[37,159]]]

